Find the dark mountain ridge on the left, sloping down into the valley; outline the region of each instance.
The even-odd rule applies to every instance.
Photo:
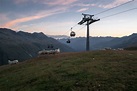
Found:
[[[38,56],[38,51],[48,48],[60,48],[61,52],[74,51],[69,46],[47,37],[44,33],[27,33],[0,28],[0,65],[8,63],[8,60],[24,61]]]

